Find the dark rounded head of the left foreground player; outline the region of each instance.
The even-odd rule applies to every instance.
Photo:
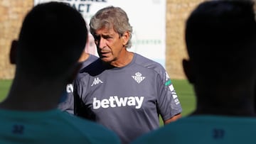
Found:
[[[86,40],[86,23],[78,11],[58,2],[38,4],[21,27],[16,72],[28,79],[58,78],[78,62]]]

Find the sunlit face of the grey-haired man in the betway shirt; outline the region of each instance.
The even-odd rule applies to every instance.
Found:
[[[100,28],[93,36],[102,61],[112,64],[122,58],[126,42],[113,28]]]

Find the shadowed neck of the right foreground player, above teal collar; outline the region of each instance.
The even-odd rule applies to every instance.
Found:
[[[228,116],[252,116],[255,89],[251,81],[240,84],[200,85],[196,90],[196,111],[198,114],[217,114]]]

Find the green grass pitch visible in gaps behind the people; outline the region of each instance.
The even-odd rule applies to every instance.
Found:
[[[191,84],[186,79],[173,79],[174,89],[178,94],[183,109],[182,115],[187,116],[195,109],[196,101]],[[11,80],[0,80],[0,101],[2,101],[9,91]],[[163,125],[163,121],[160,121]]]

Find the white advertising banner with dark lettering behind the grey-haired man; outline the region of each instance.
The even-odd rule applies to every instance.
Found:
[[[118,6],[126,11],[133,28],[132,48],[144,57],[165,67],[166,0],[34,0],[34,6],[48,1],[60,1],[80,11],[87,23],[105,6]],[[90,35],[90,34],[89,34]],[[97,55],[92,35],[85,51]]]

